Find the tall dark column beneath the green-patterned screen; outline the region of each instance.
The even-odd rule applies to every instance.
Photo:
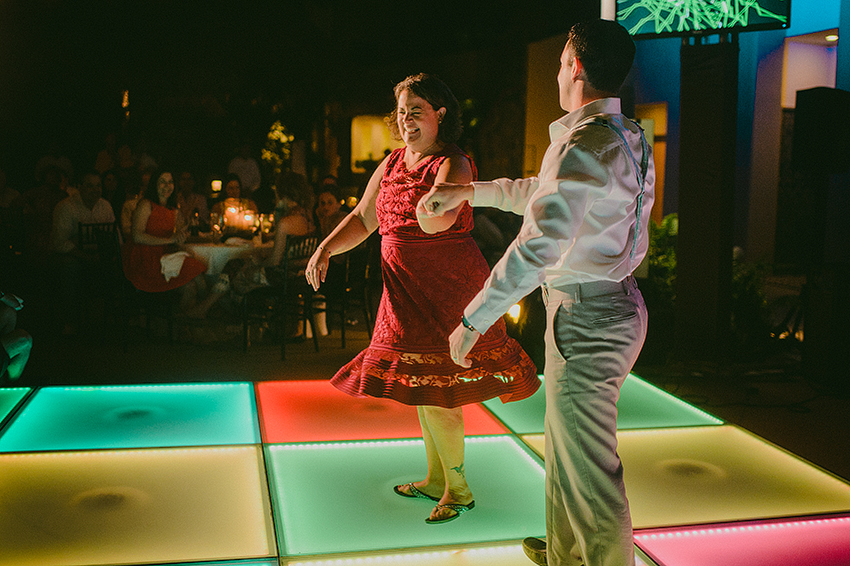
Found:
[[[676,355],[729,353],[738,44],[683,45]]]

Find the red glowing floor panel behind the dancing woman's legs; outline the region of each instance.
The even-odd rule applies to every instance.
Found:
[[[346,395],[327,381],[266,381],[257,384],[263,442],[325,442],[422,436],[416,407],[389,399]],[[479,405],[467,405],[467,435],[505,434]]]

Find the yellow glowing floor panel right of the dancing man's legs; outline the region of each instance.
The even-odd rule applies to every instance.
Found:
[[[850,511],[850,484],[734,426],[618,435],[635,528]],[[523,439],[543,452],[543,435]]]

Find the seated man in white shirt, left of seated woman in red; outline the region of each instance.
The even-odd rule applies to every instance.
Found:
[[[59,279],[59,315],[63,334],[74,334],[83,303],[83,277],[97,266],[95,253],[80,249],[80,223],[115,222],[112,206],[101,195],[103,185],[96,171],[83,175],[79,192],[59,202],[53,210],[50,235],[54,263]]]

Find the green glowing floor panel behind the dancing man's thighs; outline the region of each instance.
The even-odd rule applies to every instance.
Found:
[[[517,434],[542,433],[546,413],[543,390],[544,387],[540,387],[534,395],[516,403],[503,404],[498,399],[490,399],[484,406]],[[617,412],[619,430],[722,424],[721,420],[634,374],[629,374],[620,389]]]

